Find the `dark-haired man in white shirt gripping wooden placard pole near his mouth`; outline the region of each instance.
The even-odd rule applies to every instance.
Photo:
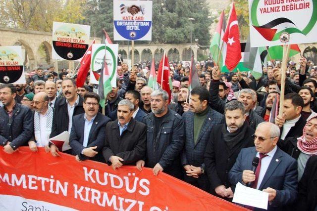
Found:
[[[288,93],[284,96],[283,114],[275,118],[275,125],[280,127],[281,141],[288,137],[302,136],[306,124],[305,118],[301,115],[304,108],[304,100],[297,93]]]

